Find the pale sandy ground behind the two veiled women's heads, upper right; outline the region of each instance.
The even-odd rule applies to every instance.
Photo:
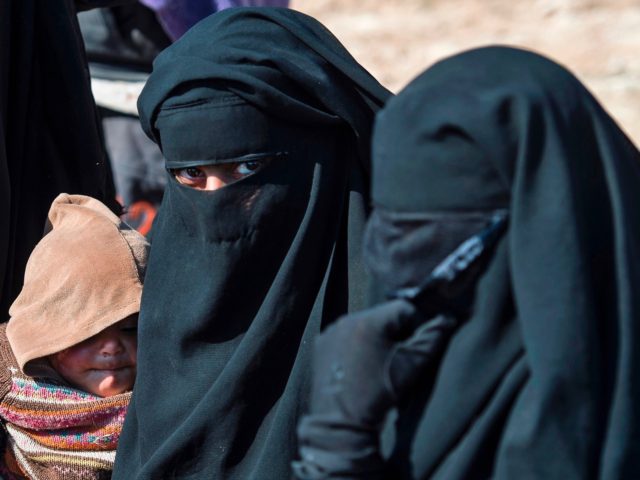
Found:
[[[570,68],[640,146],[638,0],[292,0],[398,91],[450,54],[487,44]]]

